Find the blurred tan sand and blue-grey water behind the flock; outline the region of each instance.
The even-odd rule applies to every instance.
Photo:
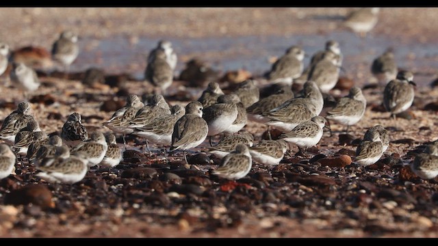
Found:
[[[381,8],[365,38],[342,25],[357,8],[1,8],[0,39],[12,51],[37,46],[50,52],[65,29],[79,36],[71,72],[101,68],[143,79],[146,56],[158,40],[172,42],[176,74],[194,57],[220,72],[244,69],[257,77],[294,44],[309,55],[337,40],[346,75],[374,79],[372,60],[394,49],[398,66],[426,85],[437,74],[438,8]],[[309,57],[304,60],[309,64]],[[49,68],[47,68],[49,69]]]

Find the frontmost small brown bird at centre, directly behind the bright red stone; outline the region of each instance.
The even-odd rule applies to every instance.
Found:
[[[214,169],[211,174],[229,180],[237,180],[246,176],[252,166],[253,158],[249,153],[248,146],[239,143],[233,152],[222,158],[219,167]]]

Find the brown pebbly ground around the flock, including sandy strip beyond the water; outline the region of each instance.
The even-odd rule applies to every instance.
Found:
[[[339,28],[340,19],[350,10],[2,8],[0,36],[12,47],[31,43],[49,49],[47,40],[65,27],[102,39],[120,34],[135,39],[318,33]],[[436,42],[436,29],[430,23],[437,21],[437,11],[383,8],[372,35]],[[206,19],[210,21],[198,21]],[[11,29],[17,30],[16,34],[11,35]],[[47,133],[60,131],[73,111],[81,113],[88,131],[107,131],[101,123],[124,104],[127,94],[152,90],[131,79],[119,87],[87,87],[77,77],[66,80],[57,74],[41,74],[40,79],[43,85],[31,102]],[[264,83],[261,80],[259,86]],[[365,85],[368,79],[362,77],[355,83]],[[192,90],[185,84],[175,81],[175,95],[166,98],[170,104],[185,105],[198,98],[202,88]],[[14,87],[0,88],[0,119],[4,119],[22,95]],[[191,153],[190,165],[186,165],[178,152],[170,156],[170,163],[164,163],[162,156],[144,156],[142,139],[129,137],[123,163],[110,169],[110,174],[107,169],[92,169],[73,187],[42,182],[34,176],[34,167],[20,161],[16,176],[0,180],[0,236],[437,237],[438,180],[420,180],[404,166],[418,148],[438,138],[438,92],[418,87],[409,113],[394,122],[382,110],[381,90],[364,90],[367,111],[363,120],[352,126],[351,135],[342,135],[343,127],[333,124],[334,135],[325,134],[310,150],[315,158],[294,157],[297,148],[293,146],[281,165],[253,165],[237,187],[209,175],[218,160],[205,154],[207,141]],[[333,90],[331,94],[338,98],[347,92]],[[358,139],[375,124],[386,126],[391,137],[381,161],[365,169],[354,163],[328,167],[319,162],[322,157],[352,156]],[[248,123],[245,130],[259,140],[266,127]]]

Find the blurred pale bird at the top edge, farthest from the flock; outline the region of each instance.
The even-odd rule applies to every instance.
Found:
[[[344,25],[359,33],[362,38],[377,24],[380,8],[361,8],[350,12],[344,20]]]

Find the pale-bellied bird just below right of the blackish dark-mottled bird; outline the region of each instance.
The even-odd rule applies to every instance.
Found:
[[[77,146],[72,148],[71,154],[77,152],[86,153],[85,158],[88,160],[88,166],[92,167],[101,163],[105,153],[107,152],[108,144],[105,140],[105,135],[100,132],[94,132],[91,134],[88,141],[79,143]]]

